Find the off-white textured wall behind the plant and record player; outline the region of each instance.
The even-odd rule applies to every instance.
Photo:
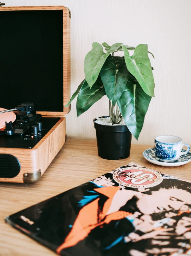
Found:
[[[1,1],[2,2],[2,1]],[[6,6],[63,5],[71,10],[71,93],[84,79],[83,62],[92,42],[148,44],[154,67],[151,100],[138,142],[161,134],[191,144],[191,0],[4,0]],[[77,118],[76,100],[66,116],[67,135],[95,139],[93,118],[108,115],[104,96]]]

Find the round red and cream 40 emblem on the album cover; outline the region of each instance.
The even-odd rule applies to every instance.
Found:
[[[123,186],[132,188],[154,187],[163,180],[162,175],[157,171],[139,167],[126,167],[115,170],[113,179]]]

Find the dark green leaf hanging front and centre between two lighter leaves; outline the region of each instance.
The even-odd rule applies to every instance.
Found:
[[[111,55],[109,55],[103,64],[100,71],[100,76],[105,88],[105,92],[113,105],[115,105],[118,99],[121,97],[129,75],[130,72],[127,69],[124,58],[113,58]]]

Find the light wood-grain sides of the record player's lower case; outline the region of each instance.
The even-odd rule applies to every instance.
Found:
[[[0,182],[23,183],[24,173],[46,171],[65,142],[66,118],[62,117],[54,127],[32,149],[0,148],[0,154],[15,156],[21,165],[19,174],[14,178],[0,178]]]

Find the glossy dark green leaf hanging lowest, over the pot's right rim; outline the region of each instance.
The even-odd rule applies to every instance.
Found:
[[[139,83],[130,76],[117,102],[125,124],[137,140],[142,130],[144,117],[151,98],[143,91]]]

